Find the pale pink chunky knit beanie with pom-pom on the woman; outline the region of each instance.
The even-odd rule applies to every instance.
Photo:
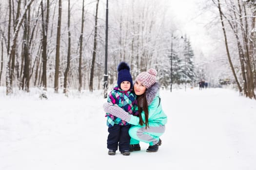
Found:
[[[154,68],[150,68],[148,71],[143,71],[138,74],[135,81],[141,82],[143,85],[146,86],[146,88],[150,88],[152,85],[154,85],[157,81],[157,70]]]

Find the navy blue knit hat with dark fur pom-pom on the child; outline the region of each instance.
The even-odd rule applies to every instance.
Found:
[[[121,62],[118,65],[118,87],[121,88],[121,83],[124,81],[128,81],[131,84],[130,89],[133,87],[133,79],[130,74],[130,67],[127,63]]]

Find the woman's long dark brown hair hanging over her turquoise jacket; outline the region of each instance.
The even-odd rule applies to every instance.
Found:
[[[144,94],[138,96],[137,101],[138,101],[139,124],[141,126],[145,124],[146,129],[147,129],[147,127],[149,127],[149,125],[148,125],[148,102],[147,102],[146,92]],[[145,122],[143,122],[142,117],[141,117],[142,111],[144,111],[144,113],[145,113]]]

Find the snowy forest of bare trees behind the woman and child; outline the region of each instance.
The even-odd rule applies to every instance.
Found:
[[[182,27],[177,15],[188,11],[175,13],[175,3],[1,1],[0,86],[7,95],[14,87],[93,91],[103,88],[104,76],[108,85],[116,84],[118,63],[126,61],[134,78],[156,68],[163,88],[192,88],[205,80],[211,87],[231,85],[255,99],[256,1],[195,0],[195,14],[183,22],[199,26],[203,31],[197,36],[191,27]],[[186,2],[177,3],[186,9]]]

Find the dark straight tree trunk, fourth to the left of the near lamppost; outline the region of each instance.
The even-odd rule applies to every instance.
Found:
[[[60,28],[61,28],[61,0],[59,0],[59,17],[58,17],[57,42],[56,42],[55,77],[54,77],[54,92],[55,93],[58,93],[58,89],[59,89]]]

